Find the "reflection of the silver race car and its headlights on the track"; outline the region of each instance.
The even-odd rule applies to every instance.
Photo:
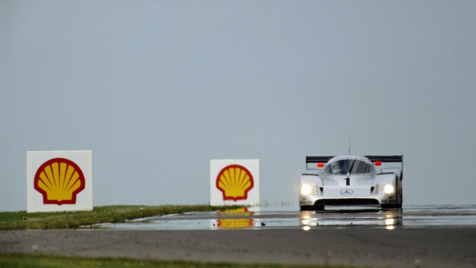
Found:
[[[381,226],[389,230],[403,224],[402,209],[380,208],[342,209],[326,208],[325,211],[302,211],[300,227],[309,230],[317,226]]]

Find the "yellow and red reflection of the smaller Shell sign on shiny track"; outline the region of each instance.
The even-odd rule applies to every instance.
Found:
[[[248,218],[253,216],[254,212],[248,211],[247,207],[218,211],[217,215],[224,217],[217,219],[216,223],[213,224],[214,227],[216,226],[220,229],[243,229],[255,226],[255,220]]]

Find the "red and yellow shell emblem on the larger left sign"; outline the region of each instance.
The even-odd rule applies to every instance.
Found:
[[[84,190],[85,180],[76,163],[54,158],[38,168],[34,185],[43,195],[43,204],[76,204],[76,195]]]

